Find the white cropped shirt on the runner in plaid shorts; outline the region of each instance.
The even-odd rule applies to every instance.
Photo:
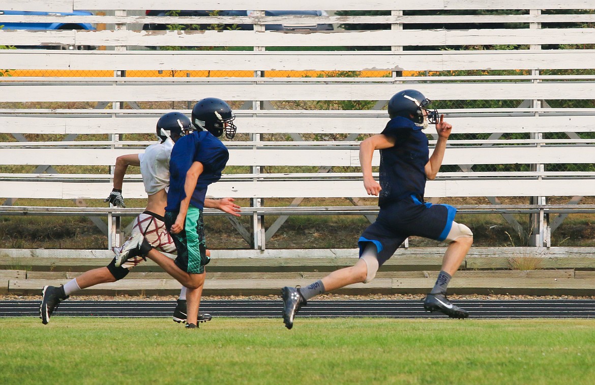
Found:
[[[170,185],[170,156],[174,142],[155,143],[139,154],[140,173],[143,176],[145,191],[149,195],[167,189]],[[167,191],[167,190],[165,190]]]

